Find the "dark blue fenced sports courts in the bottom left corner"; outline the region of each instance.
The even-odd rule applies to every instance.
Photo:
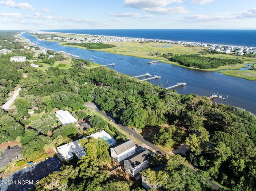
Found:
[[[61,167],[58,158],[49,158],[40,163],[26,167],[2,178],[0,183],[1,191],[26,191],[34,187],[43,177]]]

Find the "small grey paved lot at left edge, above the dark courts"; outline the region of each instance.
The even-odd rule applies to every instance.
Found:
[[[21,158],[20,152],[21,152],[21,147],[19,147],[18,145],[10,147],[10,149],[2,150],[1,151],[2,156],[0,156],[0,161],[1,161],[0,169],[9,165],[10,161],[11,161],[11,163],[13,161],[16,161],[17,157],[18,157],[18,159]]]

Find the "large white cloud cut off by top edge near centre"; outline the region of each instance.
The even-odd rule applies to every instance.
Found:
[[[124,6],[136,9],[164,7],[171,3],[182,3],[182,0],[124,0]]]

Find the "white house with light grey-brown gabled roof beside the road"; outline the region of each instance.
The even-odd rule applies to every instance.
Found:
[[[110,156],[120,162],[135,153],[136,145],[132,140],[128,140],[115,147],[110,148]]]

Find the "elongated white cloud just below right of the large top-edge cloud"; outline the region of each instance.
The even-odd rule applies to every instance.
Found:
[[[188,10],[186,10],[184,7],[156,7],[156,8],[147,8],[145,9],[146,12],[152,13],[152,14],[182,14],[182,13],[188,13]]]

